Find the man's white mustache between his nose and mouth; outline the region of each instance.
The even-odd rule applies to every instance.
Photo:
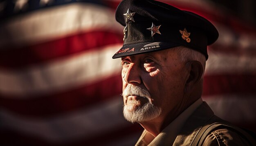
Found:
[[[134,86],[132,84],[128,84],[128,86],[124,89],[122,96],[123,97],[140,96],[148,99],[151,103],[149,91],[139,86]]]

